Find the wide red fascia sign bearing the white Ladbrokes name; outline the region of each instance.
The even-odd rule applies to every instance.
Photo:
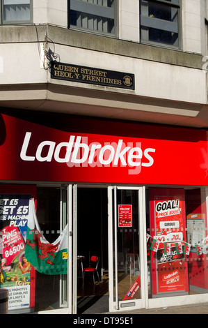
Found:
[[[72,133],[1,114],[0,179],[208,185],[206,131],[114,126],[118,135]]]

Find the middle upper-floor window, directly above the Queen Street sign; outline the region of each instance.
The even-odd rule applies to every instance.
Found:
[[[117,0],[69,0],[69,27],[116,36]]]

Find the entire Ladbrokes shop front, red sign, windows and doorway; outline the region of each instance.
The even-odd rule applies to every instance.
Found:
[[[9,313],[208,301],[207,131],[23,111],[0,128]]]

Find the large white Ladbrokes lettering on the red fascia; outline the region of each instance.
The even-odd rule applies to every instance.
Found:
[[[58,163],[66,163],[72,166],[114,166],[129,167],[129,174],[139,174],[141,167],[150,167],[154,163],[152,157],[155,149],[141,148],[141,142],[127,143],[123,140],[117,142],[104,143],[91,142],[88,144],[88,137],[70,136],[67,142],[56,144],[53,141],[43,141],[31,156],[31,144],[33,135],[26,132],[20,157],[23,161],[51,162],[53,159]],[[30,154],[30,156],[28,155]]]

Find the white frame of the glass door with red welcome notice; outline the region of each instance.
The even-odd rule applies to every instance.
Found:
[[[118,301],[118,278],[116,274],[117,263],[117,248],[115,250],[115,256],[113,256],[113,225],[117,225],[118,215],[117,206],[114,206],[113,213],[113,194],[116,194],[117,190],[137,190],[138,191],[138,227],[140,232],[139,248],[143,251],[140,252],[140,269],[141,269],[141,299],[129,301]],[[146,242],[146,221],[145,221],[145,187],[131,187],[131,186],[109,186],[108,187],[109,198],[109,311],[120,312],[127,311],[131,308],[131,311],[138,308],[145,308],[148,300],[147,289],[147,242]],[[115,200],[115,197],[114,197]],[[116,202],[116,200],[115,200]],[[116,230],[115,230],[116,231]],[[116,233],[115,233],[115,244]],[[114,262],[115,258],[115,262]],[[115,266],[115,286],[113,283],[113,268]],[[113,290],[115,287],[115,299],[113,296]]]

